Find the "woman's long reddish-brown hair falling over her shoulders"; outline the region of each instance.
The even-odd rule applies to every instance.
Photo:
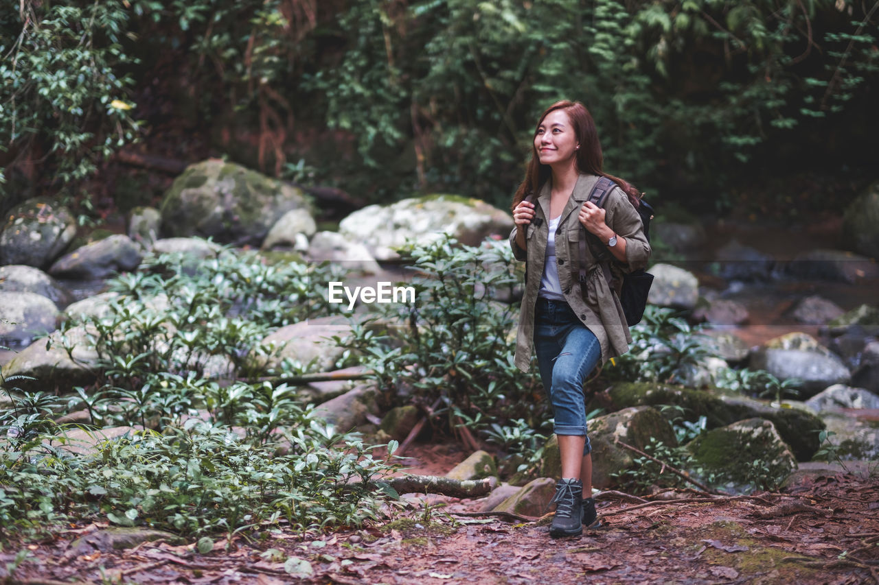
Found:
[[[580,148],[577,150],[576,159],[578,172],[590,173],[592,175],[609,178],[620,186],[622,192],[628,195],[628,200],[632,202],[633,206],[637,208],[641,205],[641,192],[638,191],[634,185],[629,184],[620,177],[608,175],[601,170],[601,166],[604,162],[604,155],[601,154],[599,134],[598,130],[595,128],[595,120],[592,119],[592,114],[586,110],[585,105],[580,102],[571,102],[567,99],[563,99],[562,101],[550,105],[547,108],[547,111],[543,112],[541,119],[538,120],[537,126],[534,126],[534,135],[537,135],[537,129],[541,127],[543,119],[548,116],[549,112],[555,112],[556,110],[563,110],[568,114],[570,124],[574,127],[574,136],[577,138],[580,145]],[[540,159],[537,156],[537,149],[534,148],[534,141],[532,141],[531,161],[528,162],[528,169],[525,172],[525,178],[522,180],[522,183],[519,184],[519,189],[516,190],[516,194],[512,197],[511,210],[515,209],[521,200],[525,199],[528,195],[539,193],[543,184],[545,184],[551,176],[552,169],[548,164],[541,164]]]

